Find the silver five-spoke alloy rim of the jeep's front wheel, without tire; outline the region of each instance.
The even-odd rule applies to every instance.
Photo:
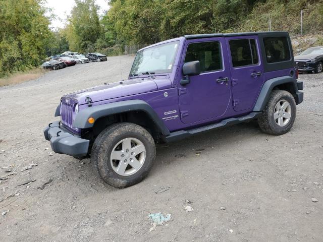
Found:
[[[121,140],[112,150],[110,162],[113,170],[122,176],[132,175],[140,170],[146,159],[144,144],[136,138]]]

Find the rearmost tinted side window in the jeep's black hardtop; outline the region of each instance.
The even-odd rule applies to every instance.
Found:
[[[290,61],[291,54],[286,37],[263,38],[267,63]]]

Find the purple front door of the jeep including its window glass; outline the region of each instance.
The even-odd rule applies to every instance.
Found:
[[[208,122],[212,118],[223,116],[231,95],[225,38],[188,40],[184,53],[180,67],[187,62],[199,61],[201,74],[190,76],[190,83],[185,86],[179,84],[182,122]],[[179,80],[185,78],[181,73],[180,71]]]

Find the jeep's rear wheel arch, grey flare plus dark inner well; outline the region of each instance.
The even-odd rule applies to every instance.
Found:
[[[267,80],[259,93],[259,96],[257,98],[256,104],[254,105],[253,111],[262,111],[270,97],[270,94],[273,90],[285,90],[290,92],[294,98],[295,94],[298,92],[296,80],[293,77],[284,76],[284,77],[277,77],[273,79]],[[299,102],[298,100],[296,100]]]

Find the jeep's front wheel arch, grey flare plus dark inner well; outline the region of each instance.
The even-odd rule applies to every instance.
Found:
[[[88,123],[89,117],[94,118],[94,124]],[[105,127],[120,122],[138,124],[151,133],[161,133],[165,136],[170,134],[154,109],[143,100],[127,100],[85,108],[76,115],[73,127],[92,128],[95,133],[98,133]]]

